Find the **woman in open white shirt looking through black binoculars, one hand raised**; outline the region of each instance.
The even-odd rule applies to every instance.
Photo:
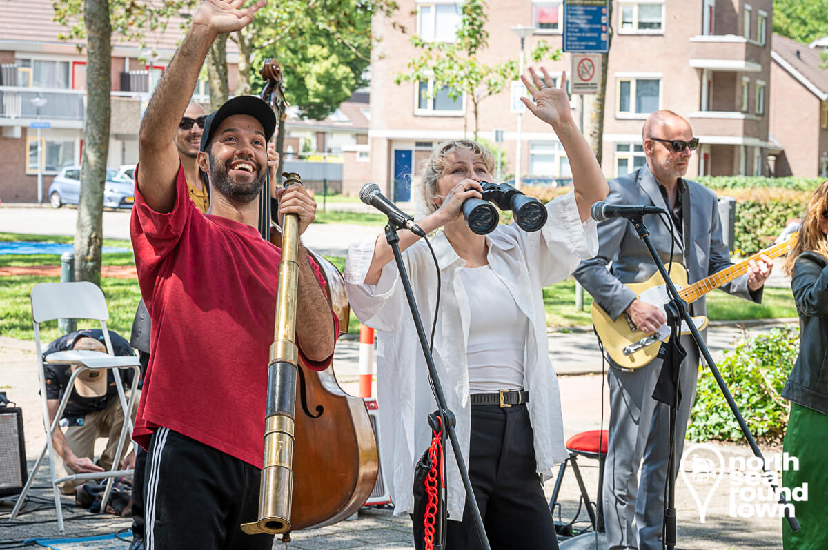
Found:
[[[551,88],[545,69],[522,76],[533,102],[527,108],[549,123],[566,150],[575,189],[547,203],[538,231],[517,223],[481,235],[462,214],[483,198],[493,155],[475,141],[451,140],[431,152],[423,172],[430,213],[417,224],[427,233],[440,270],[440,308],[433,356],[448,409],[456,415],[460,451],[492,548],[557,548],[541,480],[566,459],[561,398],[547,350],[542,288],[566,279],[595,256],[598,239],[590,206],[608,193],[604,175],[570,114],[566,75]],[[468,208],[467,208],[468,209]],[[431,328],[438,294],[437,267],[426,242],[399,232],[399,246],[422,323]],[[413,514],[414,469],[431,444],[428,414],[436,409],[426,360],[408,312],[397,265],[384,235],[351,246],[345,284],[354,313],[378,335],[380,456],[395,514]],[[465,505],[450,445],[445,449],[447,550],[480,548]],[[388,479],[388,478],[387,478]],[[423,548],[421,517],[415,543]]]

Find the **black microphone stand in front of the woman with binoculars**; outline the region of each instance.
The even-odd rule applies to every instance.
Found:
[[[431,350],[428,347],[428,338],[426,337],[426,331],[422,327],[422,319],[420,317],[420,312],[416,307],[416,302],[414,301],[414,293],[412,291],[411,282],[408,280],[408,275],[406,273],[405,265],[402,263],[402,253],[400,252],[399,246],[399,236],[397,235],[397,230],[404,228],[402,224],[398,222],[396,219],[389,218],[388,225],[385,226],[385,239],[388,241],[388,245],[391,246],[392,251],[394,252],[394,261],[397,263],[397,270],[400,273],[400,280],[402,280],[402,287],[405,289],[406,298],[408,299],[408,307],[411,309],[412,318],[414,319],[414,326],[416,328],[417,337],[420,338],[420,346],[422,347],[423,355],[426,357],[426,364],[428,365],[428,375],[431,379],[431,391],[434,393],[434,399],[437,402],[437,416],[440,416],[443,419],[443,436],[442,436],[442,444],[443,449],[445,449],[445,433],[449,434],[449,439],[451,442],[451,447],[454,449],[455,452],[455,460],[457,461],[457,467],[460,470],[460,478],[463,481],[463,486],[465,487],[466,491],[466,502],[469,505],[469,511],[472,514],[472,518],[474,519],[474,525],[477,527],[477,533],[480,537],[480,543],[483,545],[484,550],[491,550],[489,546],[489,538],[486,536],[486,529],[483,525],[483,518],[480,516],[480,509],[477,506],[477,500],[474,500],[474,490],[471,486],[471,479],[469,479],[469,471],[466,469],[465,462],[463,462],[463,455],[460,451],[460,443],[457,442],[457,434],[455,433],[455,414],[452,413],[448,406],[445,404],[445,395],[443,394],[443,387],[440,385],[440,376],[437,375],[437,369],[434,365],[434,358],[431,356]],[[444,452],[445,456],[445,452]],[[444,500],[441,503],[445,506],[445,494]],[[438,502],[438,510],[440,510],[440,503]],[[441,541],[443,538],[443,533],[445,533],[445,514],[438,513],[436,514],[436,540]],[[436,546],[435,546],[436,548]]]

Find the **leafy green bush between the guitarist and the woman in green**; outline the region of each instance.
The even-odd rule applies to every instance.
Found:
[[[754,437],[781,441],[790,412],[782,388],[798,354],[799,329],[774,328],[739,343],[719,361],[722,379]],[[744,441],[739,423],[706,366],[699,375],[687,438]]]

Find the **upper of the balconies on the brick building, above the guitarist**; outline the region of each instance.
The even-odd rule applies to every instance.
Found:
[[[700,35],[690,39],[690,66],[696,69],[755,73],[768,62],[767,47],[744,36]]]

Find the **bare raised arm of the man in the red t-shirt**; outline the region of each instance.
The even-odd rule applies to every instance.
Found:
[[[172,140],[190,102],[210,45],[219,34],[238,31],[253,22],[253,14],[266,3],[265,0],[258,0],[250,7],[243,7],[244,2],[205,0],[201,4],[193,17],[190,31],[161,77],[144,112],[138,136],[140,167],[136,184],[144,200],[156,212],[171,212],[176,204],[179,159]]]

